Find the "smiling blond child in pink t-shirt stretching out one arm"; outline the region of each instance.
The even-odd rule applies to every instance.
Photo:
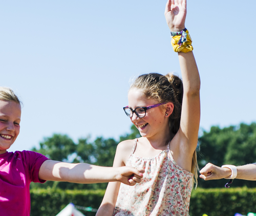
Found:
[[[99,183],[120,181],[135,185],[142,172],[133,167],[101,167],[86,163],[64,163],[24,150],[8,152],[19,135],[21,106],[9,88],[0,87],[0,214],[30,215],[31,182],[67,181]]]

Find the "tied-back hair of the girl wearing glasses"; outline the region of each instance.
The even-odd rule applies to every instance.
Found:
[[[137,77],[130,89],[132,88],[142,90],[145,97],[148,99],[155,99],[159,101],[159,103],[172,102],[174,104],[174,111],[169,117],[169,128],[173,134],[176,134],[180,128],[183,98],[182,80],[172,73],[168,73],[165,76],[158,73],[149,73]],[[192,159],[191,172],[194,174],[194,183],[196,187],[198,183],[198,170],[197,152],[195,150]]]

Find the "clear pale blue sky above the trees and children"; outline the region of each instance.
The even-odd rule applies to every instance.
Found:
[[[201,128],[256,121],[255,1],[187,1],[186,27],[201,76]],[[180,75],[165,23],[166,2],[1,1],[0,85],[22,99],[11,151],[53,133],[118,138],[131,80]]]

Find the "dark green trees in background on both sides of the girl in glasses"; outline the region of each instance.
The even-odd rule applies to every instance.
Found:
[[[69,136],[54,134],[52,137],[44,138],[39,148],[33,151],[46,155],[52,160],[68,161],[72,163],[90,163],[100,166],[112,166],[119,142],[126,139],[140,137],[138,129],[133,125],[131,133],[120,136],[119,140],[113,138],[105,139],[97,137],[94,141],[90,138],[81,138],[75,143]],[[212,126],[209,132],[203,131],[199,137],[198,164],[202,168],[210,162],[221,166],[223,164],[244,165],[256,161],[256,123],[241,123],[237,126],[220,128]],[[224,187],[228,180],[204,181],[199,179],[199,187],[214,188]],[[75,184],[67,182],[51,182],[45,184],[32,183],[31,187],[51,187],[61,189],[104,189],[106,183],[102,184]],[[234,180],[232,187],[255,187],[254,181]]]

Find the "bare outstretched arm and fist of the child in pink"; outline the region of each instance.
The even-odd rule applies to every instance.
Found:
[[[133,167],[102,167],[87,163],[65,163],[46,160],[39,169],[39,179],[73,183],[102,183],[119,181],[135,185],[141,181],[143,170]]]

